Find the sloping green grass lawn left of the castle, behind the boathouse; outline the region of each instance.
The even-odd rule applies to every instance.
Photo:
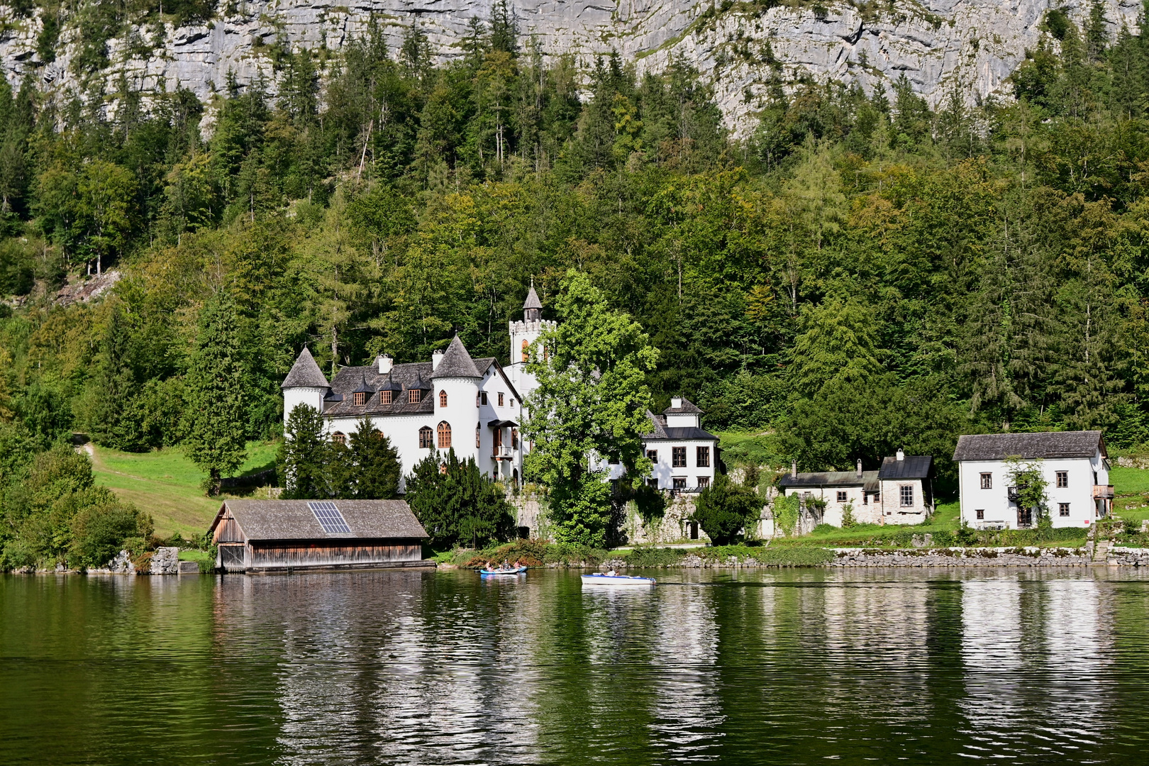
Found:
[[[200,489],[205,474],[178,449],[121,452],[91,443],[84,447],[92,457],[97,483],[151,513],[155,533],[161,537],[177,532],[184,537],[203,534],[219,510],[219,502],[239,496],[205,495]],[[240,473],[272,467],[276,449],[276,442],[249,442]]]

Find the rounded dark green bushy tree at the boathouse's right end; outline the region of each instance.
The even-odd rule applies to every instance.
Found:
[[[433,548],[479,548],[509,540],[514,532],[515,516],[502,488],[483,475],[475,458],[460,462],[454,449],[415,464],[406,498]]]

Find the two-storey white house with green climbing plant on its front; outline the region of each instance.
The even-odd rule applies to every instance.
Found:
[[[1112,510],[1113,487],[1100,431],[959,436],[957,463],[962,521],[978,529],[1018,529],[1038,523],[1018,508],[1005,458],[1038,462],[1055,527],[1081,527]]]

